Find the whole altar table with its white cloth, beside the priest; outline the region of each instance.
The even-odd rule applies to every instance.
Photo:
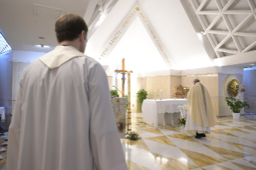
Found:
[[[187,99],[144,99],[142,104],[142,114],[144,122],[154,123],[154,126],[165,124],[173,125],[181,116],[181,111],[177,108],[181,105],[188,105]]]

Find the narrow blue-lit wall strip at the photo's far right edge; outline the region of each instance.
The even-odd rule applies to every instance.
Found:
[[[245,108],[247,113],[256,113],[256,70],[247,70],[244,73],[245,101],[250,109]]]

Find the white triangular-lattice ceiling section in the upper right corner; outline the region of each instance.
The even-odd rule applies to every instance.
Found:
[[[189,0],[217,58],[256,50],[255,0]]]

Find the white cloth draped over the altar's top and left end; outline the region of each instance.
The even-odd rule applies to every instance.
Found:
[[[142,104],[142,114],[144,122],[154,123],[157,127],[158,114],[180,112],[178,106],[188,105],[187,99],[144,99]]]

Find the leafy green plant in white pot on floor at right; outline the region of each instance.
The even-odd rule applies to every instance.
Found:
[[[226,97],[225,100],[230,109],[233,111],[233,119],[240,118],[240,111],[243,107],[247,106],[250,108],[250,105],[247,102],[242,102],[239,99],[235,99],[234,97]]]

